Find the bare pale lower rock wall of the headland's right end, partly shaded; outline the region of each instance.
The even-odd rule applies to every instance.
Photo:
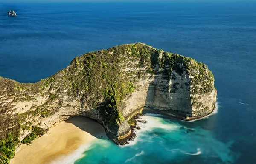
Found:
[[[137,89],[123,101],[123,116],[130,118],[131,114],[145,106],[166,112],[175,110],[189,117],[209,114],[216,102],[216,90],[204,96],[193,95],[190,90],[190,80],[185,72],[180,76],[175,71],[172,72],[170,80],[166,80],[162,74],[139,80],[136,83]],[[202,102],[200,108],[192,106],[192,96],[199,97],[198,101]],[[204,110],[205,107],[208,107],[207,110]]]

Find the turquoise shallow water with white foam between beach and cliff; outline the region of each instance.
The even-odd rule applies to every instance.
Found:
[[[210,116],[215,117],[215,116]],[[238,154],[195,122],[185,122],[147,114],[147,124],[139,123],[137,138],[126,146],[97,139],[75,164],[148,164],[148,163],[234,163]]]

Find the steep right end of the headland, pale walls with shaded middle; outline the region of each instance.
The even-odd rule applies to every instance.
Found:
[[[159,113],[180,119],[196,119],[211,113],[215,107],[217,91],[214,77],[207,65],[195,60],[157,50],[151,56],[154,76],[146,74],[136,82],[136,90],[128,95],[120,108],[130,118],[138,108],[151,107]],[[125,72],[144,68],[134,65]]]

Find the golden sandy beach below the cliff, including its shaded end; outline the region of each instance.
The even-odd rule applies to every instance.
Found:
[[[22,144],[11,164],[49,164],[72,154],[81,145],[90,145],[96,137],[105,136],[101,124],[76,116],[52,127],[32,144]]]

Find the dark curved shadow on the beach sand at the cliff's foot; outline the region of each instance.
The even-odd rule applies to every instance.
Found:
[[[104,127],[93,119],[85,116],[74,116],[65,122],[73,124],[79,129],[90,133],[90,135],[98,139],[108,139]]]

